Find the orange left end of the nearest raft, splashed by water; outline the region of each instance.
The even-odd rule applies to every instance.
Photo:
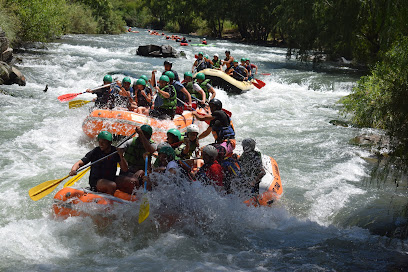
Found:
[[[116,190],[115,195],[94,192],[87,189],[66,187],[54,196],[53,210],[57,217],[88,216],[90,213],[106,212],[114,204],[124,204],[137,201],[135,195],[129,195]],[[87,206],[88,205],[88,206]]]

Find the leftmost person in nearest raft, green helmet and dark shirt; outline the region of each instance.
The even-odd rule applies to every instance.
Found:
[[[128,163],[123,157],[123,150],[116,149],[112,146],[112,134],[108,131],[101,131],[98,134],[99,146],[89,151],[85,157],[77,161],[71,168],[70,176],[75,176],[77,170],[89,162],[97,161],[118,151],[116,154],[102,160],[91,166],[91,173],[89,175],[90,189],[95,192],[102,192],[113,195],[116,189],[121,189],[121,181],[123,179],[116,176],[117,164],[119,163],[122,171],[128,171]]]

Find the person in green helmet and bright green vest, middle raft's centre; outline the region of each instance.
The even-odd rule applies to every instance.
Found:
[[[163,75],[159,79],[159,87],[155,86],[157,97],[153,104],[153,109],[149,115],[159,119],[173,119],[176,114],[177,93],[176,89],[170,85],[168,76]]]

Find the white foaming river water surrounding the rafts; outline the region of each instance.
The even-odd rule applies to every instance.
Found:
[[[198,42],[192,37],[193,43]],[[349,69],[286,60],[285,49],[211,40],[214,47],[179,47],[146,31],[70,35],[19,53],[27,86],[0,93],[0,271],[394,271],[408,266],[405,240],[385,234],[399,217],[406,191],[371,181],[368,151],[348,141],[370,130],[336,127],[338,100],[357,75]],[[82,132],[90,104],[68,109],[65,93],[98,86],[110,72],[149,75],[163,59],[135,54],[139,45],[170,44],[182,75],[194,54],[249,57],[266,82],[228,96],[238,142],[257,141],[279,164],[284,194],[271,208],[246,207],[199,184],[163,186],[150,195],[151,215],[137,224],[138,206],[123,205],[109,222],[55,219],[53,194],[34,202],[28,190],[65,176],[96,142]],[[43,92],[48,84],[47,92]],[[78,99],[91,99],[91,94]],[[209,140],[208,140],[209,141]],[[240,147],[238,147],[240,148]],[[87,185],[87,178],[77,183]],[[178,214],[175,224],[166,224]],[[399,271],[399,270],[398,270]]]

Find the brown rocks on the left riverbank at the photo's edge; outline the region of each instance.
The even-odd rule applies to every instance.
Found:
[[[0,85],[26,85],[24,75],[13,65],[13,49],[6,33],[0,27]]]

